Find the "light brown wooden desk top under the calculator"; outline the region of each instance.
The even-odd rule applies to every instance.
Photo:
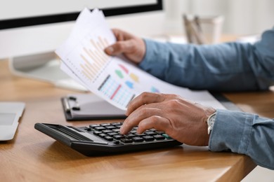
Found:
[[[0,62],[0,100],[26,103],[15,138],[0,142],[0,181],[240,181],[256,167],[245,155],[179,146],[86,157],[34,129],[35,123],[67,122],[60,97],[72,93],[48,83],[11,75]],[[227,93],[244,111],[274,117],[274,92]]]

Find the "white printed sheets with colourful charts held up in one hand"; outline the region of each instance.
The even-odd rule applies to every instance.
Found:
[[[141,70],[124,57],[110,57],[103,51],[116,38],[107,26],[103,12],[81,11],[70,37],[56,50],[61,69],[94,94],[119,109],[142,92],[179,94],[185,99],[224,109],[207,91],[193,91],[171,85]]]

